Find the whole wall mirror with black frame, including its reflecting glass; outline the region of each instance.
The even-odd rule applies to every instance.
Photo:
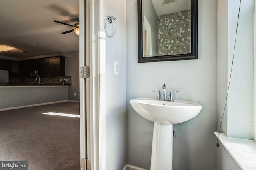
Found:
[[[138,0],[138,62],[198,59],[197,0]]]

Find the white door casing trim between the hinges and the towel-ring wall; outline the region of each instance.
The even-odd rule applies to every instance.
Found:
[[[105,31],[104,22],[105,0],[87,0],[88,20],[87,20],[87,45],[86,47],[86,66],[90,66],[90,78],[86,79],[86,113],[88,120],[87,134],[88,159],[91,160],[92,170],[106,170],[106,133],[104,108],[104,90],[102,80],[104,72],[101,72],[105,61]],[[102,60],[103,59],[103,60]],[[90,149],[90,150],[89,150]]]

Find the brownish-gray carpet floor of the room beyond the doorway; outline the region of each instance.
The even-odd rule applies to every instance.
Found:
[[[0,111],[0,160],[27,160],[28,170],[80,170],[79,104]]]

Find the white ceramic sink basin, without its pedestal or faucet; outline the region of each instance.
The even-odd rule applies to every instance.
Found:
[[[157,101],[151,98],[130,100],[132,108],[145,119],[161,124],[177,124],[198,115],[202,106],[195,102],[174,100]]]

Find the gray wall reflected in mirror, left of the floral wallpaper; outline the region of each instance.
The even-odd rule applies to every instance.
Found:
[[[157,15],[152,0],[143,0],[143,12],[151,26],[152,56],[157,55]],[[130,13],[129,13],[130,15]],[[144,21],[144,16],[142,18]],[[134,20],[137,21],[137,20]]]

